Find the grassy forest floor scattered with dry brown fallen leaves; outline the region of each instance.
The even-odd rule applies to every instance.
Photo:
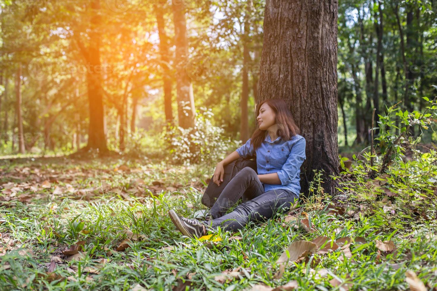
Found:
[[[214,167],[3,159],[0,289],[437,290],[435,169],[399,169],[343,173],[335,202],[315,187],[293,212],[194,240],[167,213],[205,209]]]

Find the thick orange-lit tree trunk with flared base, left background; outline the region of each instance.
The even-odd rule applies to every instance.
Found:
[[[90,124],[86,149],[93,148],[105,152],[108,151],[108,147],[104,131],[103,92],[101,90],[101,33],[97,29],[101,24],[101,17],[98,15],[100,0],[93,0],[91,8],[95,11],[95,14],[91,19],[90,46],[87,54],[87,60],[90,63],[90,72],[87,73]]]

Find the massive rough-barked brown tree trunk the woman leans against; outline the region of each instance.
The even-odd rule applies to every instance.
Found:
[[[313,169],[323,170],[325,192],[338,174],[336,0],[267,0],[258,101],[284,99],[306,140],[302,192]]]

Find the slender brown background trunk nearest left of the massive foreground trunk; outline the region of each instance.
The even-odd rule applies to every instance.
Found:
[[[248,19],[249,9],[246,9],[246,17],[244,22],[244,31],[243,31],[243,87],[241,92],[241,102],[240,102],[240,110],[241,110],[241,122],[240,122],[240,139],[243,140],[243,143],[249,139],[249,121],[248,121],[248,109],[247,102],[249,101],[249,44],[247,43],[247,38],[249,34],[249,19]]]

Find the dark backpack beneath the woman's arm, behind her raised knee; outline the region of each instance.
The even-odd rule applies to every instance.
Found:
[[[217,186],[213,181],[213,177],[211,177],[211,181],[209,181],[208,187],[206,188],[205,193],[203,193],[201,200],[202,204],[207,207],[212,207],[215,200],[217,200],[218,196],[222,194],[223,189],[228,185],[229,181],[231,181],[231,179],[245,167],[250,167],[255,170],[255,172],[258,172],[256,156],[251,159],[239,157],[232,163],[225,165],[223,167],[225,173],[223,174],[223,181],[220,183],[220,186]]]

